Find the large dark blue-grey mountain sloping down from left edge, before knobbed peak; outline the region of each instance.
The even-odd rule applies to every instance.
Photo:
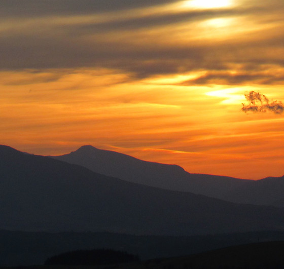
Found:
[[[283,230],[284,209],[97,174],[0,146],[0,229],[198,235]]]

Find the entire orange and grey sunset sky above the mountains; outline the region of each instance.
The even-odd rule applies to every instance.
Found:
[[[284,174],[283,0],[1,0],[0,144]]]

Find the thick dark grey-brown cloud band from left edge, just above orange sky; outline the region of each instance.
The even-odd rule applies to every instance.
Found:
[[[74,35],[76,36],[76,35]],[[4,53],[5,52],[5,53]],[[25,35],[0,39],[0,68],[104,67],[133,73],[137,78],[174,73],[180,66],[195,69],[205,63],[198,47],[161,47],[131,44],[131,41],[97,41],[90,46],[72,35],[65,38]]]

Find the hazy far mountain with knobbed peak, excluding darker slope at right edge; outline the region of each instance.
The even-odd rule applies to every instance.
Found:
[[[52,158],[78,164],[94,172],[129,182],[170,190],[188,191],[220,199],[228,191],[251,181],[226,176],[191,174],[177,165],[142,161],[123,153],[98,149],[90,145]]]

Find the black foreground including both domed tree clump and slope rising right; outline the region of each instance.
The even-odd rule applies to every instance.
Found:
[[[182,257],[139,261],[138,257],[121,251],[78,250],[50,257],[44,266],[17,268],[282,269],[283,251],[284,241],[275,241],[232,246]]]

